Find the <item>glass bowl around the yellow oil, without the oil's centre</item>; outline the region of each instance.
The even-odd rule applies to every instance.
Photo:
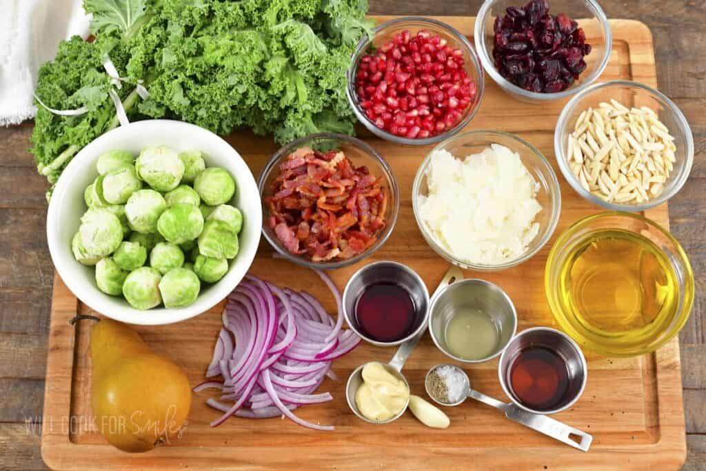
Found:
[[[621,229],[640,235],[653,242],[666,255],[666,260],[669,261],[676,275],[678,296],[676,308],[671,316],[660,318],[658,315],[652,321],[655,327],[661,330],[659,333],[645,333],[634,328],[609,330],[591,326],[587,321],[582,321],[575,314],[571,314],[570,309],[563,302],[561,272],[564,264],[570,254],[575,253],[578,245],[585,243],[590,234],[601,229]],[[645,261],[642,260],[641,266],[644,263]],[[633,357],[662,347],[684,326],[694,302],[694,275],[689,260],[676,239],[666,229],[646,217],[617,211],[584,217],[556,239],[546,261],[544,288],[551,312],[561,328],[582,347],[609,357]],[[617,296],[617,290],[616,287],[616,292],[605,292],[604,295]]]

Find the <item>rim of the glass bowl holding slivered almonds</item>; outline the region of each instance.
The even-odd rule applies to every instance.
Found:
[[[590,193],[590,191],[586,191],[579,184],[578,180],[576,179],[576,177],[574,177],[573,173],[571,173],[571,170],[568,167],[567,158],[565,155],[563,155],[563,152],[561,150],[561,144],[563,139],[563,137],[561,136],[561,131],[567,124],[571,110],[576,107],[576,105],[580,100],[582,100],[582,98],[587,97],[591,93],[594,93],[597,90],[601,90],[602,88],[609,88],[613,86],[638,88],[642,91],[650,93],[650,95],[654,95],[666,104],[666,108],[669,109],[669,112],[671,114],[674,114],[674,119],[678,122],[679,126],[681,126],[681,128],[683,128],[685,131],[684,140],[686,141],[686,162],[684,164],[684,168],[681,172],[681,175],[679,175],[678,178],[674,180],[674,183],[672,184],[671,190],[669,192],[662,192],[662,194],[660,194],[657,198],[650,199],[645,203],[640,203],[636,205],[610,203],[609,201],[604,201],[602,198],[594,196],[592,193]],[[661,205],[662,203],[669,201],[674,195],[676,195],[676,193],[681,191],[681,188],[684,186],[686,180],[689,177],[689,174],[691,173],[691,167],[693,166],[694,162],[694,138],[693,133],[691,132],[691,127],[689,126],[686,117],[684,117],[684,114],[681,112],[681,109],[679,109],[674,104],[674,102],[669,99],[669,97],[664,95],[664,93],[661,93],[659,92],[659,90],[652,88],[649,85],[645,85],[644,83],[628,80],[614,80],[594,83],[590,87],[585,88],[585,90],[582,90],[580,93],[577,93],[574,97],[571,98],[571,100],[566,103],[566,105],[564,105],[563,109],[561,110],[561,113],[559,114],[558,119],[556,120],[556,127],[554,128],[554,155],[556,157],[556,162],[559,165],[559,169],[561,170],[561,173],[564,176],[564,179],[568,181],[568,184],[570,184],[574,191],[576,191],[576,193],[578,193],[580,196],[587,199],[588,201],[591,201],[594,204],[606,208],[607,210],[638,213],[644,210],[648,210],[650,208],[654,208],[655,206]]]

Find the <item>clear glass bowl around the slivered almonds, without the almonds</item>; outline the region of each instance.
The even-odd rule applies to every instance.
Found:
[[[595,108],[600,102],[609,102],[611,98],[628,107],[647,106],[653,109],[659,115],[659,120],[674,136],[674,145],[676,145],[674,169],[664,183],[662,193],[645,203],[609,203],[585,190],[568,166],[568,136],[573,132],[579,115],[584,109],[588,107]],[[668,201],[686,183],[694,161],[694,139],[684,115],[674,105],[674,102],[662,95],[662,93],[638,82],[611,81],[597,83],[586,88],[566,104],[559,115],[559,119],[556,121],[554,153],[556,154],[559,169],[561,169],[566,181],[569,182],[576,193],[579,193],[588,201],[609,210],[644,211]]]

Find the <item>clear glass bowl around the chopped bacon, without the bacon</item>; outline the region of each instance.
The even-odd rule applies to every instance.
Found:
[[[356,167],[361,167],[366,165],[370,170],[370,173],[376,177],[383,178],[383,188],[388,193],[388,205],[385,210],[385,227],[378,233],[378,239],[370,246],[366,251],[358,254],[357,256],[346,258],[345,260],[331,260],[331,261],[312,261],[311,257],[304,255],[292,254],[285,246],[282,245],[280,239],[277,239],[275,232],[270,228],[269,218],[270,210],[268,205],[265,203],[265,198],[273,196],[272,184],[273,181],[280,174],[279,164],[287,159],[287,156],[301,147],[310,147],[312,149],[338,149],[345,153],[353,165]],[[270,158],[270,161],[265,165],[265,168],[260,174],[258,179],[258,189],[260,190],[260,197],[263,201],[263,234],[265,239],[270,242],[270,245],[284,258],[294,263],[299,263],[299,265],[306,266],[309,268],[319,268],[321,270],[332,270],[334,268],[342,268],[345,266],[352,265],[366,258],[374,251],[380,248],[385,241],[390,237],[393,232],[393,227],[395,227],[395,222],[397,222],[397,213],[400,211],[400,190],[397,188],[397,181],[393,176],[392,169],[388,162],[385,161],[380,154],[376,152],[370,145],[364,143],[360,139],[353,138],[351,136],[345,136],[344,134],[337,133],[318,133],[311,134],[311,136],[304,136],[296,141],[285,145],[277,153]]]

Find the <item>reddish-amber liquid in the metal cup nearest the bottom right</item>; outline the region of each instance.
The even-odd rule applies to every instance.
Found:
[[[555,409],[566,395],[569,382],[566,362],[546,347],[520,351],[510,366],[510,387],[517,400],[530,409]]]

